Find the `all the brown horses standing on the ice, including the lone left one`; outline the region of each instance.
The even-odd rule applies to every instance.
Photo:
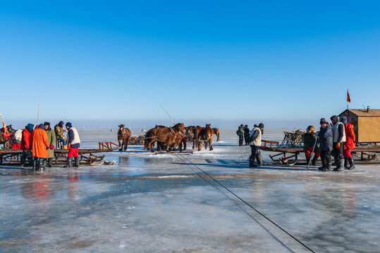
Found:
[[[126,128],[124,124],[118,126],[118,145],[121,147],[120,151],[127,150],[128,142],[130,140],[130,129]],[[220,141],[220,131],[217,128],[211,128],[210,124],[206,126],[184,126],[183,123],[175,124],[174,126],[161,126],[156,125],[154,128],[149,129],[145,134],[144,149],[154,152],[154,145],[157,143],[157,151],[166,149],[166,152],[178,149],[182,151],[183,146],[186,149],[186,141],[192,143],[192,150],[197,148],[202,150],[202,143],[204,148],[213,150],[212,138],[216,135],[217,141]],[[183,145],[182,145],[183,144]]]

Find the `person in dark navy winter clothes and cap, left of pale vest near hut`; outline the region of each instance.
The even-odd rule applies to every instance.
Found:
[[[333,150],[333,131],[329,122],[322,118],[319,122],[321,128],[319,129],[319,148],[321,150],[322,167],[318,169],[321,171],[331,171],[331,150]]]

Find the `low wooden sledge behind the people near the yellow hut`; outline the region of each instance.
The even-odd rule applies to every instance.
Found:
[[[304,153],[303,148],[282,148],[278,141],[265,141],[262,140],[260,150],[276,153],[269,155],[274,162],[281,162],[282,164],[295,165],[298,162],[305,162],[305,160],[298,160],[298,155]],[[362,164],[376,164],[380,163],[377,155],[380,153],[380,145],[359,145],[351,150],[353,155],[357,155],[356,163]],[[282,156],[281,156],[282,155]],[[278,159],[276,157],[279,157]]]

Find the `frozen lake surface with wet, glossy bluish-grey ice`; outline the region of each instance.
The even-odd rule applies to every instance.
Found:
[[[116,143],[115,131],[80,137]],[[106,153],[116,165],[0,167],[0,252],[380,252],[379,165],[252,169],[235,130],[215,141],[181,155],[130,145]]]

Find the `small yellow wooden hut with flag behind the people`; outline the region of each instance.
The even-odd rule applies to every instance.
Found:
[[[357,143],[380,143],[380,109],[347,109],[343,116],[354,125]]]

